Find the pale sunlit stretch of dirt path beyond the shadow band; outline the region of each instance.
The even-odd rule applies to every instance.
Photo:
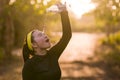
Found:
[[[95,47],[100,34],[73,33],[63,52],[60,62],[86,61],[94,56]]]

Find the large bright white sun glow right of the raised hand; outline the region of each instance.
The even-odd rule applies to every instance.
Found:
[[[61,0],[61,2],[66,2],[68,6],[70,5],[70,10],[78,18],[81,18],[84,13],[95,9],[95,4],[91,0]]]

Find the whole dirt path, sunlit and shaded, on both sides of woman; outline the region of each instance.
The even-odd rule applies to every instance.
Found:
[[[60,58],[61,80],[119,80],[109,71],[109,66],[96,59],[94,51],[99,34],[74,33]],[[0,80],[22,80],[21,50],[18,59],[0,66]],[[0,64],[1,65],[1,64]]]

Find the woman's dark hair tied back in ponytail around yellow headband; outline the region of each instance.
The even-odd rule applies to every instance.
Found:
[[[33,31],[32,31],[32,33],[33,33]],[[31,43],[34,41],[34,37],[32,36],[32,33],[31,33]],[[30,58],[31,55],[32,56],[35,55],[34,50],[30,50],[28,47],[27,36],[25,38],[22,53],[23,53],[24,62],[26,62]]]

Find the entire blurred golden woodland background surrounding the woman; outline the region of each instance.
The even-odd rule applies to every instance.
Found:
[[[32,29],[55,44],[61,37],[58,13],[66,2],[72,39],[61,55],[61,80],[120,79],[120,0],[0,0],[0,80],[22,80],[22,46]]]

